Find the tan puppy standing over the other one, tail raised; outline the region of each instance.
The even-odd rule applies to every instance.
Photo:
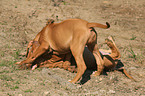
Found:
[[[103,69],[104,62],[100,56],[97,40],[94,39],[93,32],[90,32],[91,27],[100,27],[107,29],[110,27],[109,23],[102,25],[98,23],[88,23],[82,19],[68,19],[61,23],[52,23],[46,25],[42,32],[40,32],[39,44],[40,46],[32,53],[29,58],[20,63],[23,68],[26,64],[32,63],[37,57],[46,51],[54,50],[58,54],[66,54],[71,51],[77,63],[78,72],[73,80],[70,82],[77,82],[84,71],[86,65],[83,60],[83,51],[87,45],[89,50],[95,56],[98,70],[95,75],[100,75]],[[38,34],[39,35],[39,34]],[[95,35],[97,36],[97,34]]]

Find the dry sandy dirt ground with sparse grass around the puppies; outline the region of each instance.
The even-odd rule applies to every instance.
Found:
[[[144,8],[145,0],[0,0],[0,96],[145,96]],[[50,18],[109,22],[110,29],[95,28],[98,44],[112,35],[137,82],[109,72],[79,85],[64,69],[19,70],[14,63],[25,59],[20,54]]]

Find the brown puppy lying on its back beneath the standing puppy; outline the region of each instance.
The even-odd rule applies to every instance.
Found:
[[[92,31],[95,31],[95,30],[92,30]],[[105,40],[105,43],[109,46],[109,48],[111,50],[99,49],[99,51],[102,54],[103,61],[104,61],[104,70],[106,70],[106,71],[119,70],[119,71],[122,71],[122,73],[124,73],[128,78],[133,79],[127,73],[127,71],[124,69],[124,65],[122,64],[122,62],[120,60],[118,60],[120,58],[120,52],[119,52],[118,48],[116,47],[113,38],[108,37]],[[46,56],[48,56],[48,55],[49,54],[47,54]],[[75,64],[72,63],[73,62],[72,60],[70,60],[71,57],[72,57],[71,53],[67,53],[67,54],[65,54],[65,56],[56,56],[55,54],[53,54],[49,60],[46,60],[46,61],[42,62],[41,64],[36,64],[34,66],[32,65],[33,66],[32,70],[34,70],[36,67],[48,67],[48,68],[59,67],[59,68],[64,68],[70,72],[77,72],[77,68],[76,68]],[[89,53],[89,50],[87,47],[84,50],[83,57],[84,57],[87,68],[90,70],[92,70],[92,69],[96,70],[95,69],[96,68],[95,60]],[[44,57],[43,59],[45,59],[45,58],[46,57]],[[69,62],[66,62],[67,60],[69,60]],[[135,81],[135,79],[133,79],[133,80]]]

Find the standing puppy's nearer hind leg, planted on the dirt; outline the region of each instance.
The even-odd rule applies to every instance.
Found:
[[[86,70],[86,64],[83,58],[83,52],[86,45],[86,42],[89,38],[90,33],[88,32],[88,29],[79,29],[76,30],[76,34],[74,34],[73,39],[70,44],[70,50],[72,55],[75,58],[76,64],[77,64],[77,74],[74,77],[73,80],[70,82],[76,83],[84,74]],[[79,34],[78,34],[79,33]]]

